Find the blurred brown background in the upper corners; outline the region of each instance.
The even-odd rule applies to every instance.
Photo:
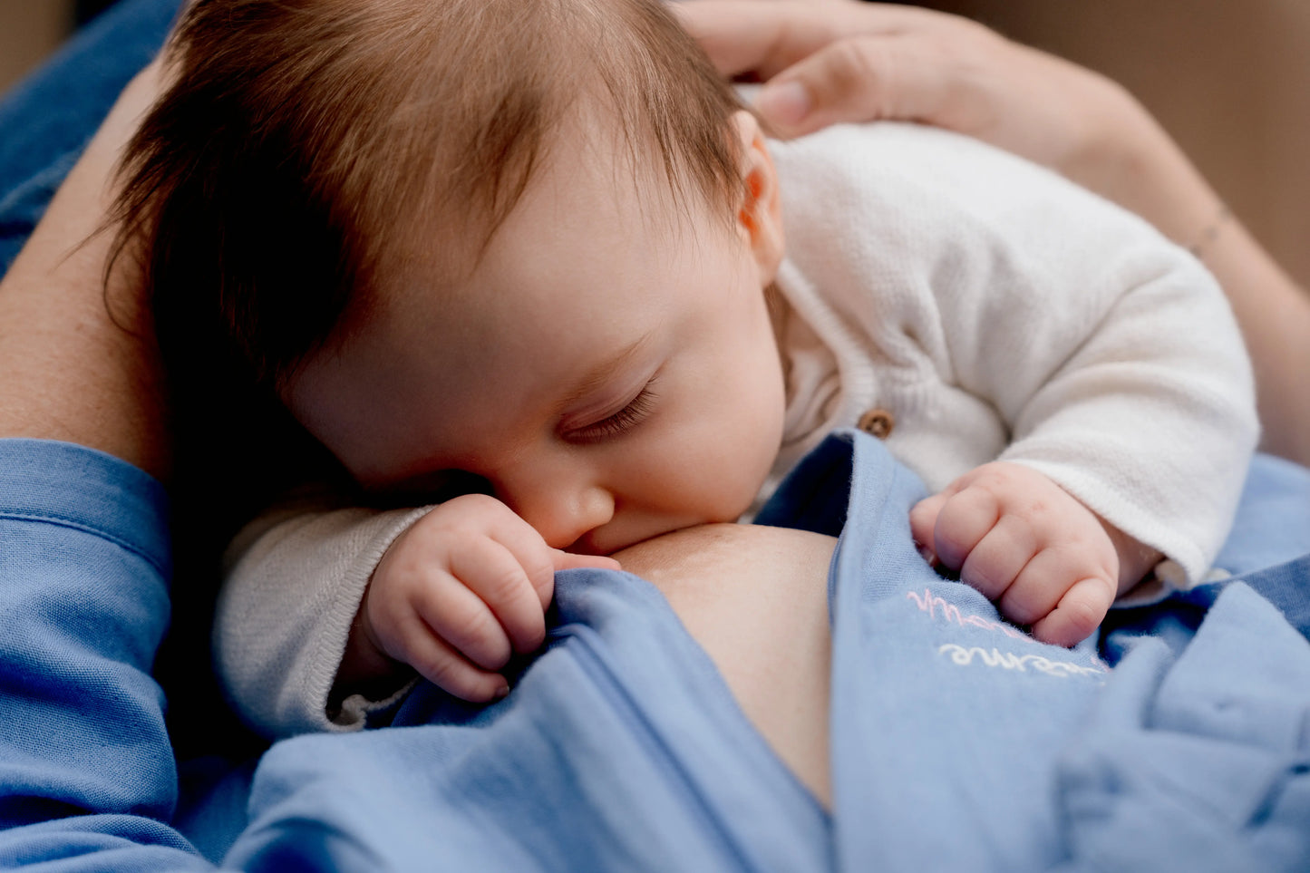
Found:
[[[0,0],[0,88],[103,0]],[[1310,287],[1307,0],[934,0],[1124,83]]]

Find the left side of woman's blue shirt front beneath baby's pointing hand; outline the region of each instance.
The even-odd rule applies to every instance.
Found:
[[[423,686],[398,717],[410,726],[274,747],[228,860],[831,869],[827,814],[652,587],[579,570],[555,596],[549,650],[503,703],[474,710]]]

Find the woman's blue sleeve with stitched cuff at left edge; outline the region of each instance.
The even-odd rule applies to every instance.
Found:
[[[109,455],[0,440],[0,866],[204,865],[177,802],[164,697],[161,486]]]

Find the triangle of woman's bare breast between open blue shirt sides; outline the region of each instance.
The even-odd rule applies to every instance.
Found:
[[[664,592],[743,712],[831,806],[828,564],[836,540],[755,524],[709,524],[614,557]]]

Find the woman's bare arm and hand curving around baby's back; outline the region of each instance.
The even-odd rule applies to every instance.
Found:
[[[1255,364],[1267,451],[1310,465],[1310,295],[1235,220],[1125,89],[939,12],[854,0],[698,0],[684,24],[730,75],[768,79],[758,109],[794,136],[893,118],[956,130],[1045,164],[1192,246]]]

